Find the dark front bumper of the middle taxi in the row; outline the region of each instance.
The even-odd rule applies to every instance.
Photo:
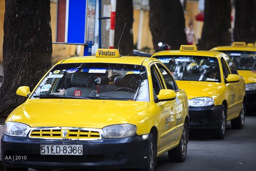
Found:
[[[191,129],[217,129],[221,122],[222,105],[189,107]]]

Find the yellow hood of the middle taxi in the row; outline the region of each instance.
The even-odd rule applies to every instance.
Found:
[[[196,97],[211,97],[218,95],[221,90],[220,82],[204,82],[204,81],[179,81],[176,80],[180,89],[184,89],[188,99]]]

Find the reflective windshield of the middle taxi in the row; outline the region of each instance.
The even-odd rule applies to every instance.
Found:
[[[220,82],[217,58],[207,56],[154,56],[164,63],[177,80]]]

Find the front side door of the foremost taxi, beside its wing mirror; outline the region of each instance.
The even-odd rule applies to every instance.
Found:
[[[155,64],[151,66],[151,75],[153,82],[153,92],[156,97],[161,89],[164,89],[162,76]],[[158,152],[167,148],[172,141],[176,130],[176,117],[174,110],[174,100],[160,101],[156,104],[157,113],[156,120],[159,121],[158,127]]]

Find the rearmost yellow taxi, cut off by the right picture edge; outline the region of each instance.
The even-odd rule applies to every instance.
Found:
[[[211,51],[227,54],[237,67],[239,75],[245,80],[246,108],[255,109],[256,106],[256,47],[245,42],[233,42],[232,46],[219,46]]]

